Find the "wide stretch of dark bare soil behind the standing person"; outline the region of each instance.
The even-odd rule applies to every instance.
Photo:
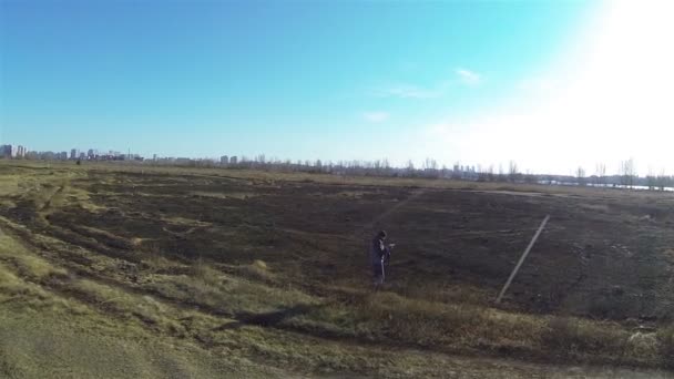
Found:
[[[674,197],[667,194],[95,172],[70,185],[88,192],[99,211],[50,202],[42,218],[39,205],[23,196],[1,213],[129,262],[146,254],[228,265],[261,259],[293,285],[313,288],[367,285],[369,238],[386,228],[398,244],[391,290],[432,296],[461,284],[493,297],[549,214],[507,307],[658,321],[674,310]]]

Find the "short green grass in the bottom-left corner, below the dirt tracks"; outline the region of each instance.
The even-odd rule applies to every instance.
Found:
[[[99,314],[0,313],[3,378],[218,378],[278,376],[246,359],[176,344]]]

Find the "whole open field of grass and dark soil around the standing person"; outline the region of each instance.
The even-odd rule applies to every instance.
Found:
[[[670,377],[673,196],[0,162],[0,377]]]

